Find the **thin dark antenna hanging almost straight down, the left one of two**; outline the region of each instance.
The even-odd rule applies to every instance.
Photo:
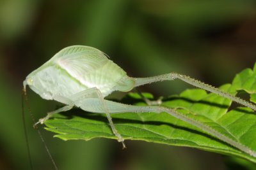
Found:
[[[25,92],[24,92],[24,90],[22,90],[22,94],[21,94],[22,122],[23,122],[24,134],[25,134],[25,139],[26,139],[30,169],[33,170],[33,165],[32,165],[32,160],[31,160],[31,153],[30,153],[30,148],[29,148],[28,133],[27,133],[27,127],[26,127],[26,122],[25,122],[26,119],[25,119],[25,113],[24,113],[24,96],[25,96]]]

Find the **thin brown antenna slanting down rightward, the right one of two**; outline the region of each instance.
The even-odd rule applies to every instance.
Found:
[[[28,111],[29,111],[30,117],[31,117],[31,119],[32,119],[32,121],[33,121],[33,124],[35,125],[35,124],[36,124],[36,121],[35,121],[35,118],[34,118],[34,116],[33,116],[32,111],[31,111],[31,108],[30,108],[30,105],[29,105],[29,102],[28,102],[28,96],[27,96],[27,93],[26,93],[26,89],[25,89],[25,88],[23,89],[23,92],[24,92],[24,96],[25,96],[25,99],[26,99],[26,103],[27,103],[27,105],[28,105]],[[49,151],[49,148],[47,147],[47,145],[46,145],[46,143],[45,143],[45,140],[44,140],[44,138],[43,138],[43,136],[42,136],[41,131],[38,129],[38,127],[37,127],[36,125],[35,125],[35,129],[36,129],[36,131],[38,132],[38,135],[39,135],[39,137],[40,137],[42,143],[44,143],[45,150],[46,150],[48,156],[50,157],[54,168],[55,168],[56,170],[58,170],[58,167],[56,166],[56,163],[55,163],[54,159],[52,158],[52,155],[51,155],[51,153],[50,153],[50,151]],[[28,143],[27,143],[27,144],[28,144]],[[29,152],[29,153],[30,153],[30,152]],[[30,154],[29,154],[29,157],[30,157]],[[30,161],[31,161],[31,159],[30,159]]]

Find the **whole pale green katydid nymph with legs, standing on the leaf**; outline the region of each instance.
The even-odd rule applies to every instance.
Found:
[[[44,124],[45,120],[51,118],[54,113],[68,111],[73,107],[92,113],[106,113],[113,134],[125,148],[124,138],[116,130],[111,119],[111,113],[166,112],[256,157],[256,151],[171,108],[159,105],[132,106],[105,99],[114,91],[129,92],[140,85],[174,79],[185,81],[195,87],[218,94],[256,111],[256,106],[252,103],[182,74],[168,73],[147,78],[127,76],[127,73],[112,60],[109,60],[105,53],[90,46],[75,45],[64,48],[45,64],[30,73],[24,80],[23,85],[25,92],[26,85],[28,85],[43,99],[55,100],[65,104],[62,108],[47,113],[47,116],[41,118],[36,124]]]

